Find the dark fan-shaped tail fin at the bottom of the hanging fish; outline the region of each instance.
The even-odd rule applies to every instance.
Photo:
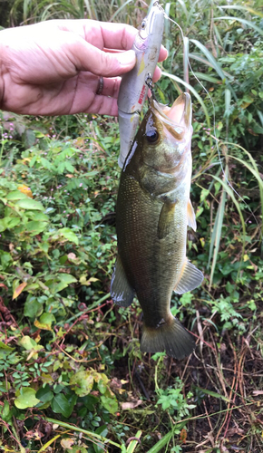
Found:
[[[166,352],[175,359],[183,359],[194,348],[193,336],[174,317],[157,328],[143,325],[141,352]]]

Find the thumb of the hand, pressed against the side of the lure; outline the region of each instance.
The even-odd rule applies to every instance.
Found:
[[[132,50],[108,53],[86,42],[82,47],[79,49],[78,55],[74,55],[79,60],[79,64],[77,64],[79,71],[90,71],[103,77],[116,77],[131,71],[136,63],[135,52]]]

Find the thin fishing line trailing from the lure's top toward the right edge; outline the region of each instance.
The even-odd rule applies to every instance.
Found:
[[[171,18],[169,17],[169,15],[166,14],[166,12],[164,11],[163,8],[161,8],[161,9],[162,9],[162,12],[163,12],[163,14],[164,14],[165,19],[168,19],[171,23],[175,24],[175,25],[179,28],[180,34],[181,34],[181,37],[182,37],[182,42],[184,42],[185,36],[184,36],[183,31],[182,31],[182,29],[181,29],[181,27],[180,27],[180,24],[178,24],[178,23],[175,22],[173,19],[171,19]],[[208,90],[207,90],[206,87],[202,84],[202,82],[200,82],[199,78],[197,77],[197,75],[196,75],[195,72],[193,71],[193,69],[192,69],[192,67],[191,67],[191,64],[190,64],[189,55],[187,55],[187,63],[188,63],[188,65],[189,65],[190,72],[192,73],[192,75],[194,76],[194,78],[196,79],[196,81],[200,83],[200,86],[202,87],[202,89],[203,89],[203,90],[206,92],[206,94],[208,95],[209,101],[211,102],[211,105],[212,105],[212,108],[213,108],[213,132],[214,132],[214,137],[213,137],[213,136],[211,136],[211,137],[212,137],[212,138],[215,140],[215,142],[216,142],[216,147],[217,147],[218,156],[219,156],[219,164],[220,164],[220,167],[221,167],[223,176],[224,176],[224,178],[225,178],[225,181],[226,181],[227,184],[229,185],[229,188],[231,188],[231,189],[233,190],[233,192],[239,197],[239,199],[245,204],[245,206],[248,207],[249,212],[252,214],[252,216],[253,216],[253,218],[255,219],[257,225],[259,226],[259,224],[258,224],[258,219],[257,219],[257,217],[255,216],[255,214],[252,212],[252,209],[248,206],[248,203],[244,200],[244,198],[242,198],[242,197],[239,195],[239,192],[238,192],[235,188],[233,188],[232,184],[231,184],[230,181],[229,181],[229,178],[228,178],[227,175],[226,175],[226,172],[225,172],[225,170],[224,170],[224,168],[223,168],[222,159],[221,159],[221,154],[220,154],[220,150],[219,150],[219,139],[218,139],[218,137],[217,137],[217,130],[216,130],[216,110],[215,110],[215,104],[214,104],[214,102],[213,102],[213,100],[212,100],[212,98],[211,98],[211,96],[210,96]],[[261,237],[261,239],[262,239],[262,232],[260,233],[260,237]]]

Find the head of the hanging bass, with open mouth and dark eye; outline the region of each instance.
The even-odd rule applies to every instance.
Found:
[[[185,172],[191,167],[191,135],[191,101],[188,93],[181,94],[171,108],[151,100],[150,109],[142,120],[132,147],[132,151],[136,152],[134,145],[138,144],[137,148],[140,149],[140,162],[137,165],[141,167],[144,164],[146,171],[152,169],[176,174],[181,179],[183,170]],[[132,151],[128,161],[132,159]]]

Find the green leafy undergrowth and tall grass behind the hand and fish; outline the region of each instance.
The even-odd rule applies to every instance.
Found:
[[[11,24],[93,17],[138,25],[147,10],[134,4],[7,3]],[[157,95],[173,100],[183,84],[191,87],[198,229],[189,232],[188,255],[205,274],[200,288],[173,295],[171,306],[195,334],[196,352],[180,362],[141,354],[141,308],[112,305],[116,120],[0,112],[6,452],[263,451],[262,5],[164,7],[206,88],[184,67],[180,31],[167,22],[170,57]]]

